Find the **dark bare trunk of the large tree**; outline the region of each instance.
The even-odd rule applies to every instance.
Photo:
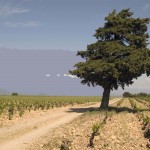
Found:
[[[100,109],[107,109],[108,108],[109,97],[110,97],[110,88],[109,87],[104,88]]]

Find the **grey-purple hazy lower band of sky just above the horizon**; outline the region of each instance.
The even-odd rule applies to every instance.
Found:
[[[0,94],[98,96],[101,87],[82,85],[80,79],[69,76],[74,64],[83,61],[75,51],[14,50],[0,48]],[[111,95],[149,91],[150,78],[141,76],[125,90],[120,88]]]

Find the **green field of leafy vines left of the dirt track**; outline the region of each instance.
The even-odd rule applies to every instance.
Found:
[[[14,114],[21,117],[25,111],[99,101],[98,96],[0,96],[0,116],[7,115],[11,120]]]

